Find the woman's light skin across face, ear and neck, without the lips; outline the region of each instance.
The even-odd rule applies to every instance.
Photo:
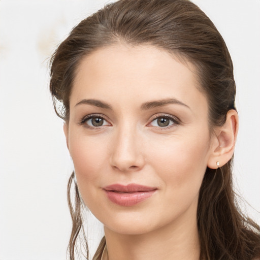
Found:
[[[152,46],[109,46],[79,64],[64,133],[110,260],[199,259],[200,186],[207,167],[232,157],[238,117],[230,110],[210,133],[198,84],[192,64]],[[125,207],[106,196],[115,183],[156,191]]]

